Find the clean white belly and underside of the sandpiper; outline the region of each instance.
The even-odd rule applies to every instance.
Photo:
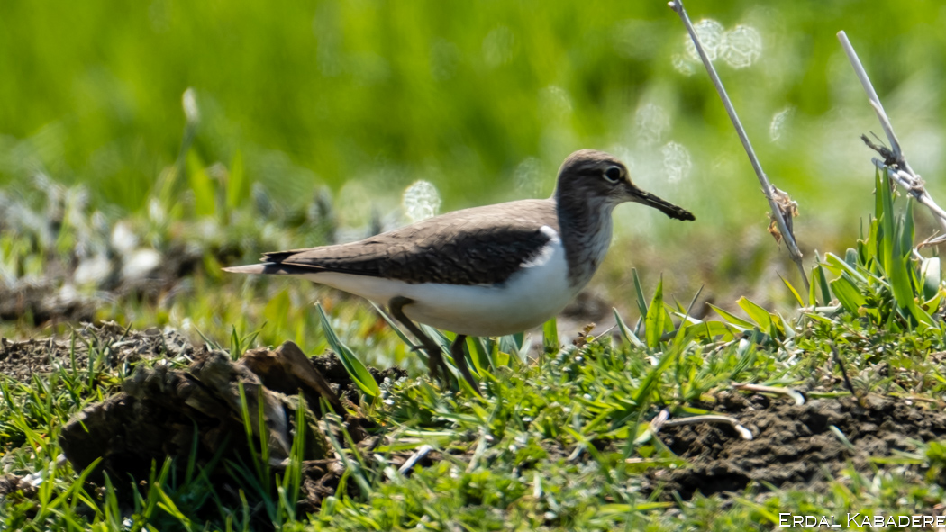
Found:
[[[458,335],[499,336],[541,325],[565,308],[580,289],[569,286],[568,269],[565,249],[556,237],[538,259],[523,265],[502,284],[409,284],[334,272],[302,277],[379,305],[397,296],[408,298],[413,302],[404,307],[404,314],[437,329]]]

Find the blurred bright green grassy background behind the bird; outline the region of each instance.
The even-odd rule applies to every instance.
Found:
[[[694,22],[707,19],[767,174],[799,203],[809,261],[815,249],[850,246],[873,201],[872,153],[858,137],[880,129],[838,30],[861,54],[909,161],[934,197],[946,192],[946,6],[687,8]],[[742,146],[662,0],[13,0],[0,3],[0,27],[0,184],[23,197],[44,188],[37,182],[80,184],[84,208],[112,223],[166,220],[164,210],[224,232],[264,231],[273,213],[312,218],[307,206],[328,205],[345,239],[409,221],[403,192],[416,180],[434,185],[440,212],[544,197],[569,152],[595,147],[697,216],[683,224],[622,206],[596,281],[611,300],[632,293],[630,266],[649,283],[673,276],[681,300],[707,284],[721,304],[746,291],[783,300],[769,281],[796,275],[765,232],[767,204]],[[187,88],[199,113],[192,144]],[[37,212],[43,201],[34,197]],[[156,248],[179,236],[162,223],[170,234],[141,230]],[[211,238],[207,224],[191,240]],[[322,243],[305,224],[284,225],[301,236],[280,241],[274,227],[263,240]],[[217,260],[259,251],[248,237],[231,240]],[[67,263],[80,259],[73,250]]]

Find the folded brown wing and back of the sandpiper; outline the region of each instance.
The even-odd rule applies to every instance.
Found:
[[[334,271],[408,283],[503,283],[558,232],[551,200],[455,211],[350,244],[266,253],[286,273]]]

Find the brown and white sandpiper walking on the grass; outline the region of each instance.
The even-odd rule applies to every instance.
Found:
[[[421,342],[430,374],[448,379],[439,346],[413,322],[457,334],[450,355],[466,367],[467,335],[531,329],[558,314],[588,283],[611,242],[611,211],[624,201],[678,220],[693,215],[640,190],[601,151],[569,155],[548,199],[522,199],[439,215],[359,242],[265,253],[235,273],[294,275],[380,305]]]

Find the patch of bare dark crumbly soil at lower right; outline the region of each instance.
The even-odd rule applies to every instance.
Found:
[[[690,499],[696,492],[740,491],[753,482],[819,489],[826,485],[826,473],[836,477],[851,466],[869,471],[873,457],[915,452],[911,440],[946,437],[946,414],[885,397],[868,396],[862,403],[850,398],[815,400],[803,405],[770,403],[758,395],[745,398],[727,393],[721,399],[727,414],[754,438],[739,438],[731,427],[719,424],[666,428],[660,438],[692,465],[649,473],[650,489],[663,489],[667,499],[673,491]],[[718,411],[720,405],[715,406]],[[917,475],[921,482],[920,473],[914,468],[907,474]]]

